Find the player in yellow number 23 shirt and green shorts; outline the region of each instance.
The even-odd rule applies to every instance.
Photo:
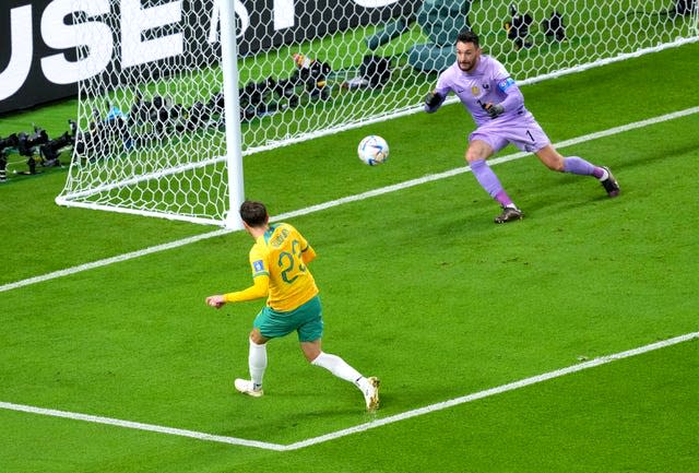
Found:
[[[311,365],[321,366],[354,383],[364,394],[367,410],[378,409],[379,379],[365,378],[341,357],[321,350],[322,311],[318,287],[308,270],[308,263],[316,258],[313,248],[292,225],[270,225],[266,208],[261,202],[244,202],[240,217],[254,239],[250,249],[253,285],[245,291],[206,297],[206,304],[215,308],[266,297],[266,305],[258,314],[250,332],[248,364],[251,379],[236,379],[236,389],[260,398],[266,368],[266,342],[296,331],[301,351]]]

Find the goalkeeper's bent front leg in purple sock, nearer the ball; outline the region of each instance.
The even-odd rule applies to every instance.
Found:
[[[506,144],[507,142],[505,140],[474,132],[471,134],[465,156],[481,187],[502,208],[502,213],[495,217],[496,223],[512,222],[523,216],[522,211],[518,209],[505,191],[500,179],[498,179],[490,166],[486,163],[488,157]]]

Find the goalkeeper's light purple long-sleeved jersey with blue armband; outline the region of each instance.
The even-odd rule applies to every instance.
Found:
[[[501,104],[505,113],[496,121],[533,119],[524,108],[524,97],[509,72],[495,58],[481,55],[478,64],[472,72],[464,72],[454,62],[439,74],[435,92],[446,97],[449,92],[457,94],[478,127],[493,119],[484,110],[485,104]]]

